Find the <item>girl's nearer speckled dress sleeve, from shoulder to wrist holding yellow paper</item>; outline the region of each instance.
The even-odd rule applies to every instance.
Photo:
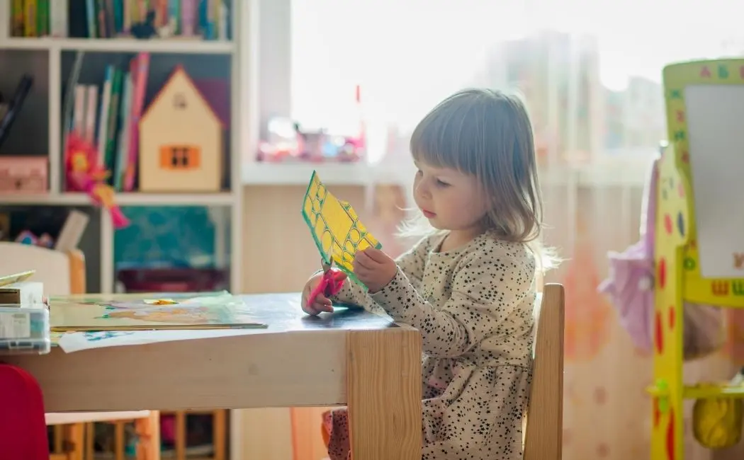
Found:
[[[535,274],[533,257],[504,245],[466,254],[455,268],[449,299],[432,305],[398,270],[385,288],[371,298],[396,321],[417,328],[423,352],[431,357],[457,357],[487,337],[506,336],[504,321],[530,294]]]

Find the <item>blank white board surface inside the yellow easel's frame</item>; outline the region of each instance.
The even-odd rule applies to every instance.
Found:
[[[743,278],[744,85],[690,85],[684,103],[701,276]]]

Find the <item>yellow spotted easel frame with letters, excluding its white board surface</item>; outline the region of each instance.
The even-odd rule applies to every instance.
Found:
[[[744,398],[744,386],[684,386],[682,381],[683,301],[744,308],[744,267],[740,267],[743,268],[741,276],[704,278],[699,258],[703,249],[702,245],[698,247],[697,242],[703,228],[696,226],[696,197],[692,189],[692,184],[696,183],[693,176],[697,175],[699,169],[695,166],[696,173],[692,174],[695,162],[690,158],[698,155],[699,159],[702,155],[712,153],[708,149],[696,148],[705,136],[690,129],[694,124],[690,110],[693,99],[690,88],[702,91],[699,88],[712,86],[729,88],[728,91],[743,88],[744,59],[685,62],[664,68],[667,123],[670,146],[673,148],[667,149],[662,155],[657,190],[654,382],[649,390],[653,401],[652,460],[684,460],[684,399]],[[697,99],[700,100],[700,97],[697,96]],[[697,120],[700,120],[699,115]],[[737,117],[736,114],[731,116]],[[744,130],[744,120],[738,122]],[[690,144],[696,146],[691,148]],[[744,145],[739,147],[738,153],[744,155]],[[723,172],[721,177],[726,174],[728,172]],[[744,181],[744,177],[741,180]],[[740,200],[742,198],[744,196]],[[740,208],[731,210],[731,213],[739,213],[738,216],[742,212]],[[713,224],[719,222],[711,222]],[[744,232],[740,236],[741,241],[744,241]],[[731,242],[734,250],[736,244]],[[737,254],[732,256],[734,259],[741,258]],[[732,260],[731,264],[734,268],[730,270],[735,272],[735,266],[742,262]]]

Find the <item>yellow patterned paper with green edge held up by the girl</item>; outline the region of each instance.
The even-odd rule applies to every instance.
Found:
[[[323,261],[335,263],[354,281],[357,281],[351,265],[354,254],[368,247],[382,247],[359,221],[351,205],[333,196],[315,171],[302,203],[302,216]]]

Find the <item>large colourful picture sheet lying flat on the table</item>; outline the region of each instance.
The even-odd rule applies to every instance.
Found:
[[[125,294],[50,299],[52,331],[136,331],[143,329],[263,328],[239,297]],[[137,297],[138,296],[138,297]],[[143,298],[148,297],[148,298]]]

